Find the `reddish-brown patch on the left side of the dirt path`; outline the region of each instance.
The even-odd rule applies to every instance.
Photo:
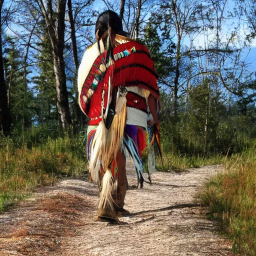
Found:
[[[17,219],[20,221],[10,224],[8,232],[0,235],[4,248],[25,255],[52,255],[60,252],[60,237],[65,241],[65,237],[74,236],[74,226],[84,225],[80,216],[84,211],[94,208],[79,194],[68,192],[57,192],[31,201],[29,207],[27,203],[25,205],[18,213]],[[30,209],[27,211],[27,208]]]

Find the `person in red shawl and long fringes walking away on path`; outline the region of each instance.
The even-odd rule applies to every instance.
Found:
[[[78,69],[78,102],[89,118],[89,174],[99,186],[96,221],[119,223],[118,215],[128,213],[123,208],[127,157],[134,161],[138,184],[150,182],[141,154],[148,140],[148,110],[150,125],[159,128],[157,74],[146,46],[128,37],[114,11],[98,16],[95,38]]]

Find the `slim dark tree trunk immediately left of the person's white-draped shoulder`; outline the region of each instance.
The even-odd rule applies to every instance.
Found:
[[[74,60],[74,66],[75,66],[75,75],[73,79],[73,90],[75,93],[75,99],[72,103],[72,109],[73,109],[73,127],[74,127],[74,133],[77,133],[78,126],[79,126],[79,120],[80,120],[80,107],[78,105],[78,93],[77,93],[77,71],[78,71],[78,54],[77,54],[77,44],[76,44],[76,37],[75,37],[75,26],[74,26],[74,19],[73,19],[73,13],[72,13],[72,2],[71,0],[67,0],[67,7],[68,7],[68,16],[69,16],[69,22],[71,26],[71,40],[72,40],[72,49],[73,49],[73,60]]]

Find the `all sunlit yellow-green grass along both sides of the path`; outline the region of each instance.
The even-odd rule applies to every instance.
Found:
[[[0,140],[0,211],[28,196],[35,187],[52,185],[59,177],[79,176],[87,171],[83,136],[45,139],[43,143],[16,148],[9,138]],[[144,159],[145,160],[145,159]],[[163,152],[158,171],[224,164],[225,171],[213,176],[200,193],[211,218],[222,221],[233,238],[233,249],[256,255],[256,153],[255,150],[227,157]]]

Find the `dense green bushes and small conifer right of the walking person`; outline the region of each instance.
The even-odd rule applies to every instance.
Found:
[[[161,91],[159,119],[164,152],[207,158],[215,154],[231,155],[252,146],[256,139],[255,106],[241,112],[235,102],[228,108],[211,84],[210,80],[204,81],[192,87],[188,97],[180,98],[182,108],[176,122],[171,115],[172,102]]]

